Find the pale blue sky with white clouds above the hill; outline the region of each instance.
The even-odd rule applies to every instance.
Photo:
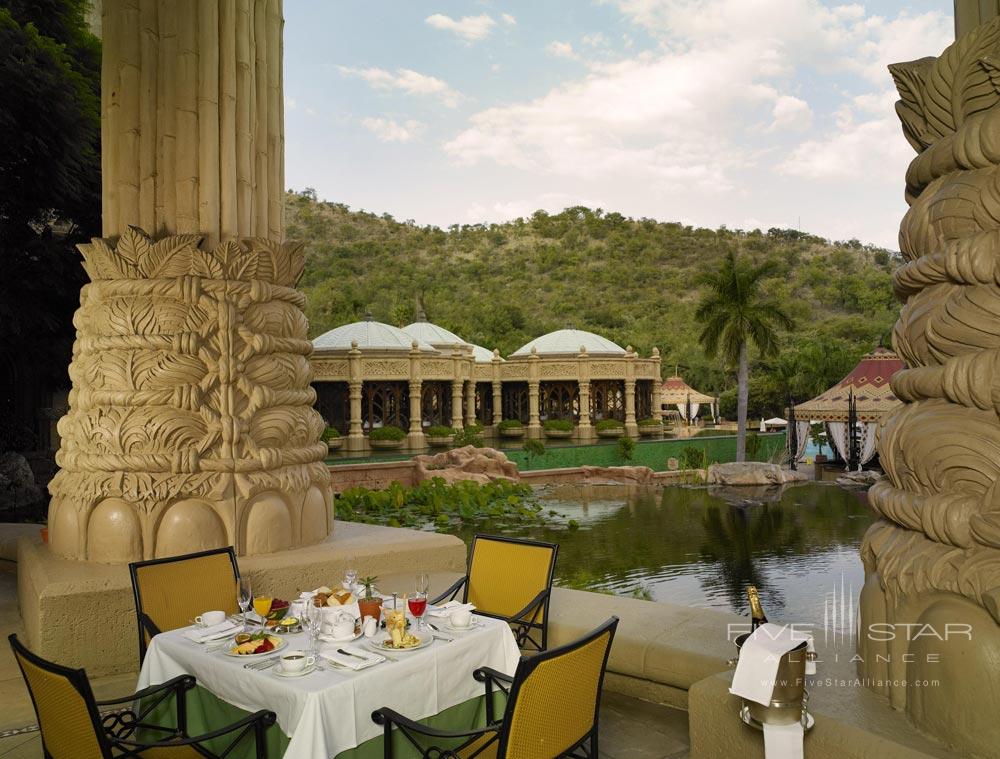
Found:
[[[421,224],[587,205],[896,247],[886,64],[951,0],[286,0],[286,184]]]

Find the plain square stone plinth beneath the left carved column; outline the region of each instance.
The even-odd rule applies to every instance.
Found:
[[[351,566],[361,576],[420,567],[465,571],[465,544],[451,535],[337,522],[318,545],[240,557],[255,589],[294,598],[303,588],[338,584]],[[55,556],[38,537],[18,542],[17,595],[28,647],[59,664],[84,667],[91,677],[139,669],[135,603],[125,565]],[[85,643],[81,643],[85,641]]]

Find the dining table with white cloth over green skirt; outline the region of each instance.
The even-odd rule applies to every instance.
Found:
[[[323,657],[317,669],[300,677],[282,676],[279,666],[248,668],[247,657],[230,655],[229,645],[199,643],[191,628],[160,633],[150,641],[138,688],[182,674],[198,687],[189,695],[188,719],[206,730],[222,727],[247,713],[270,709],[277,715],[269,730],[270,757],[284,759],[361,759],[382,756],[382,731],[371,718],[389,707],[411,719],[445,729],[469,729],[483,720],[484,688],[473,678],[478,667],[513,675],[520,658],[506,622],[483,615],[464,631],[441,627],[430,645],[413,651],[379,651],[385,660],[360,670],[345,669]],[[305,632],[282,635],[285,645],[267,656],[310,648]],[[360,637],[347,650],[366,650]],[[321,641],[322,651],[343,644]],[[367,649],[376,646],[367,644]],[[257,658],[257,657],[254,657]],[[248,747],[248,755],[252,746]]]

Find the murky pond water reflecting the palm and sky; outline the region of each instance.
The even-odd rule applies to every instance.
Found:
[[[840,608],[856,605],[858,548],[875,518],[863,491],[812,482],[567,485],[538,495],[561,515],[556,523],[508,532],[559,543],[559,585],[746,614],[753,584],[769,618],[813,625],[823,625],[834,596]]]

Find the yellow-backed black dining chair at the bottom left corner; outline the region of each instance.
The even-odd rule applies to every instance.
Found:
[[[84,670],[36,656],[17,635],[7,640],[35,707],[45,759],[212,758],[230,754],[251,737],[253,756],[267,759],[265,732],[275,722],[274,712],[261,710],[226,727],[190,737],[187,692],[196,684],[191,675],[180,675],[122,698],[97,701]],[[154,710],[163,712],[160,707],[168,706],[171,700],[173,708],[168,713],[175,718],[172,726],[146,721]],[[206,747],[208,741],[219,753]]]

